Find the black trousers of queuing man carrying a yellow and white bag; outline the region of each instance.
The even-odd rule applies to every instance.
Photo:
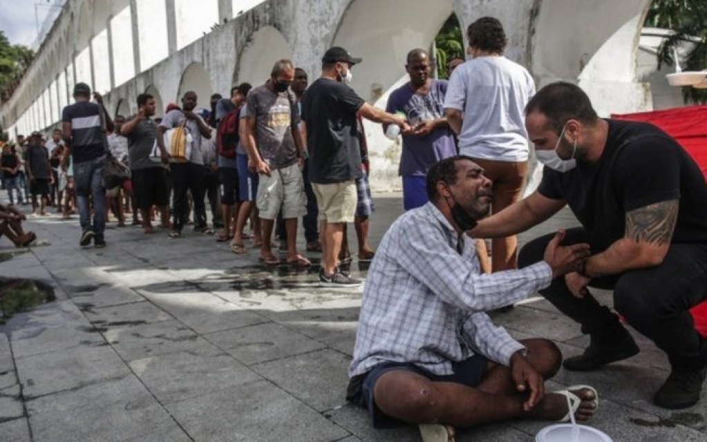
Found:
[[[191,162],[170,163],[172,171],[173,217],[172,222],[177,232],[182,232],[184,222],[189,216],[187,211],[187,190],[192,191],[194,200],[194,229],[206,228],[206,205],[204,204],[204,166]]]

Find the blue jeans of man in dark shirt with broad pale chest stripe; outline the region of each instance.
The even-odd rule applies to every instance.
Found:
[[[74,186],[76,186],[76,205],[81,220],[81,230],[93,229],[98,239],[103,239],[105,231],[105,187],[103,186],[103,167],[105,155],[95,160],[74,162]],[[93,198],[93,226],[90,220],[90,202]]]

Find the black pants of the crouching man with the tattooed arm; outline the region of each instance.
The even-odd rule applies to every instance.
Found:
[[[519,267],[542,260],[549,234],[530,241],[520,251]],[[563,244],[588,242],[595,249],[588,232],[568,229]],[[672,366],[690,368],[707,364],[707,341],[694,327],[689,309],[707,299],[707,244],[672,244],[665,260],[653,268],[629,270],[619,275],[600,277],[590,287],[614,290],[614,309],[626,322],[655,342],[667,353]],[[564,277],[540,290],[542,296],[559,311],[582,325],[582,332],[595,342],[612,342],[620,330],[619,318],[587,295],[575,298]]]

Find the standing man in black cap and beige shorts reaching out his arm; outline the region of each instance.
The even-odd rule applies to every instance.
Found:
[[[356,184],[361,177],[356,115],[377,123],[409,127],[403,117],[376,109],[348,84],[351,67],[361,63],[342,47],[332,47],[322,57],[322,75],[302,99],[303,131],[310,154],[309,177],[317,197],[322,225],[322,285],[352,286],[361,281],[341,273],[337,258],[346,222],[356,215]]]

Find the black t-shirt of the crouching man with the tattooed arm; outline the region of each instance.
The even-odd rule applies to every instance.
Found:
[[[594,247],[624,237],[627,212],[678,198],[672,242],[707,243],[707,185],[692,157],[652,124],[608,122],[600,160],[563,173],[546,167],[539,193],[567,201]]]

